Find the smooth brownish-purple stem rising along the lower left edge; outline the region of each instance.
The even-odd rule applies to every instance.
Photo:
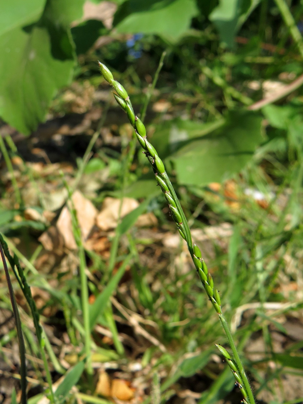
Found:
[[[17,306],[17,302],[16,302],[14,290],[13,290],[13,285],[11,283],[11,278],[8,273],[8,267],[7,267],[7,263],[6,263],[6,259],[5,259],[5,255],[4,255],[4,251],[2,248],[1,242],[0,242],[0,255],[1,255],[2,262],[3,262],[9,296],[11,298],[11,303],[12,303],[12,307],[13,307],[13,313],[14,313],[16,328],[17,328],[19,354],[20,354],[20,362],[21,362],[21,364],[20,364],[21,393],[22,393],[21,403],[26,404],[27,403],[27,398],[26,398],[27,380],[26,380],[25,344],[24,344],[24,339],[23,339],[19,310],[18,310],[18,306]]]

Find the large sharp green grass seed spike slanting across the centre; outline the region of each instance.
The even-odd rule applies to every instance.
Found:
[[[145,126],[143,125],[143,122],[135,115],[126,90],[120,83],[114,80],[112,73],[107,69],[105,65],[99,62],[99,67],[101,74],[103,75],[105,80],[116,90],[117,94],[114,93],[114,97],[120,107],[126,112],[130,124],[135,129],[137,140],[144,150],[144,153],[154,170],[156,181],[158,182],[158,185],[160,185],[164,197],[168,202],[171,216],[177,225],[181,237],[187,242],[189,253],[196,267],[196,271],[198,272],[198,276],[202,282],[202,285],[204,286],[210,302],[213,304],[213,307],[215,308],[219,316],[219,320],[221,321],[221,324],[225,330],[227,340],[234,355],[234,376],[237,383],[242,387],[244,403],[247,402],[248,404],[255,404],[255,400],[253,398],[248,379],[245,375],[243,365],[237,352],[236,345],[227,325],[227,321],[225,320],[225,317],[223,316],[223,313],[221,311],[221,299],[219,292],[217,289],[214,288],[213,278],[208,273],[207,266],[202,259],[200,248],[192,242],[189,225],[187,223],[186,217],[184,215],[183,209],[181,208],[173,185],[171,184],[168,175],[166,174],[164,164],[159,158],[154,147],[147,141]]]

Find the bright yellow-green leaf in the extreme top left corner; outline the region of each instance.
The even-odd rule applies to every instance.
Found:
[[[11,29],[36,22],[46,0],[0,0],[0,36]]]

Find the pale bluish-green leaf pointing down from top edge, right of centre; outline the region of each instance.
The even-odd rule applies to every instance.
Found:
[[[238,29],[261,0],[220,0],[219,5],[209,16],[217,27],[222,42],[230,48]]]

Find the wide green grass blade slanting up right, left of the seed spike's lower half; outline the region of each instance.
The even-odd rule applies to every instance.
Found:
[[[114,276],[112,276],[111,280],[108,282],[107,286],[102,290],[102,292],[96,297],[96,300],[89,308],[89,324],[90,329],[92,329],[97,321],[97,318],[103,313],[105,310],[109,298],[112,296],[114,290],[117,288],[120,279],[122,278],[126,266],[129,260],[126,259],[124,263],[120,266],[118,271]]]

